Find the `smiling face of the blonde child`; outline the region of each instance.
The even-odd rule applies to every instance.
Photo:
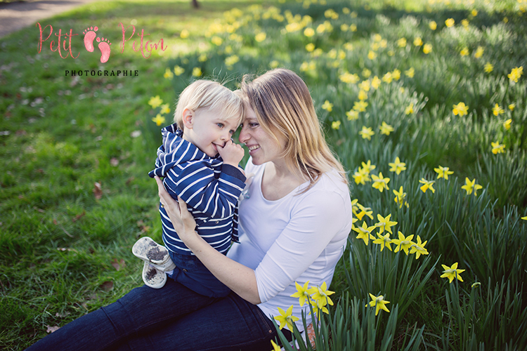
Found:
[[[209,157],[218,154],[218,147],[223,147],[226,141],[233,137],[238,120],[230,118],[223,120],[217,110],[183,111],[183,139],[193,143]]]

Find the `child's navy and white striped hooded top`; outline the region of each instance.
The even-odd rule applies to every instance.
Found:
[[[161,131],[163,143],[157,149],[155,169],[148,173],[163,178],[171,197],[181,197],[196,221],[196,232],[214,249],[226,253],[230,241],[238,241],[238,197],[245,176],[237,167],[223,164],[221,157],[209,157],[184,140],[176,124]],[[174,230],[160,204],[163,241],[167,249],[193,255]]]

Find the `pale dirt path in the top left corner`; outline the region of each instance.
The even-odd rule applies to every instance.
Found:
[[[96,0],[30,0],[0,3],[0,38],[35,22]]]

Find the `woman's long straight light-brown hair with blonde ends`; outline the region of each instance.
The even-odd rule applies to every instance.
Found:
[[[289,169],[310,180],[304,191],[332,169],[348,183],[344,168],[327,146],[308,87],[296,73],[273,69],[252,81],[245,75],[241,90],[264,131],[278,144],[279,137],[285,140],[282,157]]]

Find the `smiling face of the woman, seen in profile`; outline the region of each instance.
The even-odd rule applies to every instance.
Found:
[[[277,144],[275,139],[260,126],[252,108],[247,108],[241,127],[240,143],[244,143],[249,148],[253,164],[265,164],[282,159],[285,140],[279,138],[280,144]]]

